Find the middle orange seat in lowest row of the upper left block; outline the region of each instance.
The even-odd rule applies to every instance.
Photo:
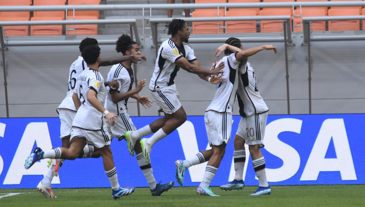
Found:
[[[62,20],[61,17],[32,17],[31,21],[49,21]],[[62,25],[32,25],[30,26],[30,35],[32,36],[47,36],[47,35],[62,35]]]

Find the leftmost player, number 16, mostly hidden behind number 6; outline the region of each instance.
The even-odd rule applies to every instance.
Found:
[[[80,53],[82,50],[88,46],[88,45],[97,45],[98,42],[94,38],[85,38],[80,42],[79,50]],[[134,61],[137,61],[138,58],[142,58],[143,60],[146,60],[146,57],[141,55],[129,55],[129,56],[123,56],[123,57],[113,57],[113,58],[104,58],[100,61],[100,66],[109,66],[114,65],[119,62],[123,62],[126,60],[133,59]],[[76,115],[76,108],[72,101],[72,94],[74,92],[74,88],[76,86],[76,80],[78,78],[78,75],[84,71],[88,70],[87,64],[82,58],[82,56],[78,56],[77,60],[75,60],[69,70],[69,76],[68,76],[68,92],[66,93],[66,97],[64,100],[62,100],[61,104],[57,107],[57,113],[59,114],[59,119],[61,120],[61,129],[60,133],[62,140],[62,147],[68,148],[70,146],[70,135],[72,131],[72,121],[73,118]],[[104,82],[105,85],[110,85],[111,87],[114,87],[116,83],[112,82]],[[85,148],[82,150],[80,157],[82,158],[88,158],[91,157],[91,153],[95,150],[94,146],[92,145],[86,145]],[[100,157],[100,154],[95,153],[95,157]],[[41,192],[45,197],[47,198],[57,198],[51,189],[51,181],[54,176],[58,175],[58,169],[62,166],[64,160],[63,159],[52,159],[49,160],[49,169],[47,170],[46,174],[44,175],[43,179],[38,183],[37,185],[37,191]]]

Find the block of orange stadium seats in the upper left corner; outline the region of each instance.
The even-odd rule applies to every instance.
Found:
[[[33,3],[40,5],[65,5],[66,0],[1,0],[0,6],[29,6]],[[68,0],[69,5],[99,5],[100,0]],[[0,21],[40,21],[40,20],[64,20],[64,11],[34,11],[30,12],[0,12]],[[68,11],[67,19],[99,19],[99,11]],[[28,26],[4,27],[7,36],[27,36]],[[68,25],[66,34],[71,35],[97,35],[97,25]],[[31,26],[30,35],[62,35],[62,25]]]

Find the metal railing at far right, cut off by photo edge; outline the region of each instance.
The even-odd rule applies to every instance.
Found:
[[[323,16],[323,17],[304,17],[303,35],[304,43],[308,45],[308,92],[309,92],[309,114],[312,114],[312,88],[311,88],[311,42],[320,41],[359,41],[365,40],[364,24],[361,31],[312,31],[312,22],[319,21],[346,21],[346,20],[365,20],[365,16]],[[346,24],[346,23],[345,23]],[[360,22],[359,22],[360,27]]]

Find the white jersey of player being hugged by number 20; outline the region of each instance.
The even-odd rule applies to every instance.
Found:
[[[215,86],[213,100],[205,111],[212,110],[231,113],[238,88],[237,69],[240,62],[236,60],[236,53],[224,56],[216,66],[218,66],[220,62],[224,62],[224,76],[222,78],[227,78],[227,82]]]

